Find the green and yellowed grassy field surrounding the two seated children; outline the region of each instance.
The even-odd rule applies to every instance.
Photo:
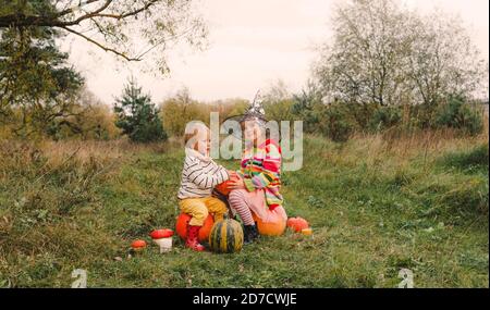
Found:
[[[488,138],[448,133],[305,139],[304,168],[284,173],[287,232],[235,255],[196,253],[175,238],[127,258],[179,213],[176,142],[0,144],[0,287],[489,286]],[[229,168],[234,162],[224,163]]]

